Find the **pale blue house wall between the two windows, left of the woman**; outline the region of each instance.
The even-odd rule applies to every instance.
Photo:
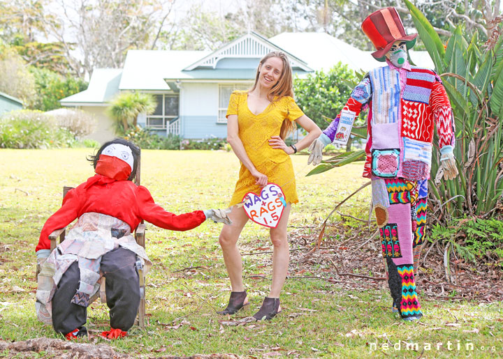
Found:
[[[189,139],[227,137],[227,125],[217,123],[219,85],[185,83],[180,91],[181,135]]]

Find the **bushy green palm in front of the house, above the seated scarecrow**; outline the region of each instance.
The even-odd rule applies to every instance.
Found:
[[[156,100],[150,93],[128,91],[119,93],[110,102],[107,113],[115,121],[115,132],[124,134],[131,124],[136,127],[138,114],[150,115],[156,106]]]

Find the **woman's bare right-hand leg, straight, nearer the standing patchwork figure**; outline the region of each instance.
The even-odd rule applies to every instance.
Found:
[[[270,238],[274,246],[272,253],[272,284],[269,298],[279,298],[288,273],[290,250],[286,239],[286,224],[288,224],[291,204],[287,204],[276,228],[270,229]]]

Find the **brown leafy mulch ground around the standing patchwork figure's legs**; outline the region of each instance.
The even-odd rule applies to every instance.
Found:
[[[388,288],[377,228],[360,227],[351,236],[338,225],[327,226],[318,242],[319,227],[290,227],[289,279],[318,278],[349,290]],[[310,233],[309,233],[310,232]],[[245,255],[259,257],[270,266],[272,247],[260,247]],[[449,272],[444,266],[445,247],[427,242],[419,261],[416,285],[430,300],[503,300],[503,271],[481,259],[466,262],[451,251]],[[265,255],[260,255],[265,254]]]

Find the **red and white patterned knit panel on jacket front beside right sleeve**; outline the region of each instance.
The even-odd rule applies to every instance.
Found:
[[[431,108],[423,102],[402,100],[402,136],[432,142]]]

